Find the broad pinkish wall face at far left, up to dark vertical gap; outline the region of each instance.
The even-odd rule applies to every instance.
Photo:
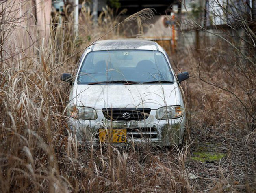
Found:
[[[2,60],[16,61],[35,53],[33,44],[37,41],[35,10],[32,1],[7,1],[2,4],[1,38],[3,39]]]

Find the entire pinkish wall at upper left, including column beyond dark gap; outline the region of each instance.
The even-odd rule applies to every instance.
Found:
[[[51,0],[8,0],[1,15],[1,59],[8,63],[37,54],[50,37]]]

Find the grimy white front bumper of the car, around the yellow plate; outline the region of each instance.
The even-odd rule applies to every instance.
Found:
[[[101,110],[97,110],[96,120],[69,119],[69,127],[78,142],[99,143],[99,129],[127,129],[127,142],[150,142],[160,146],[179,145],[183,140],[186,118],[158,120],[156,110],[143,121],[109,121]]]

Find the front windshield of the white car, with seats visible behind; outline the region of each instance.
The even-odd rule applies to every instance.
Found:
[[[163,53],[144,50],[92,51],[85,57],[78,84],[173,83]]]

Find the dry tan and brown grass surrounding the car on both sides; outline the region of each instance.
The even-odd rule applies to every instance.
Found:
[[[185,56],[172,56],[178,68],[189,70],[192,76],[182,83],[192,140],[213,144],[217,140],[219,149],[228,155],[212,164],[214,172],[206,170],[213,176],[201,175],[205,172],[199,170],[202,165],[191,161],[191,149],[196,147],[189,141],[181,150],[174,147],[169,151],[149,144],[78,147],[63,115],[69,86],[59,81],[59,75],[74,72],[78,52],[118,24],[111,11],[104,14],[95,28],[89,12],[82,11],[80,23],[86,24],[81,24],[78,38],[72,34],[72,21],[55,26],[47,49],[39,48],[32,57],[15,53],[20,56],[15,61],[18,65],[12,57],[3,57],[9,51],[1,50],[1,192],[254,191],[255,78],[251,77],[255,69],[253,65],[244,68],[245,60],[225,44],[200,55],[188,50]],[[0,15],[1,26],[5,19]],[[3,32],[1,38],[7,38]],[[116,34],[118,28],[103,38],[117,38]],[[245,166],[232,164],[237,156],[244,159]],[[191,179],[191,173],[197,178]]]

